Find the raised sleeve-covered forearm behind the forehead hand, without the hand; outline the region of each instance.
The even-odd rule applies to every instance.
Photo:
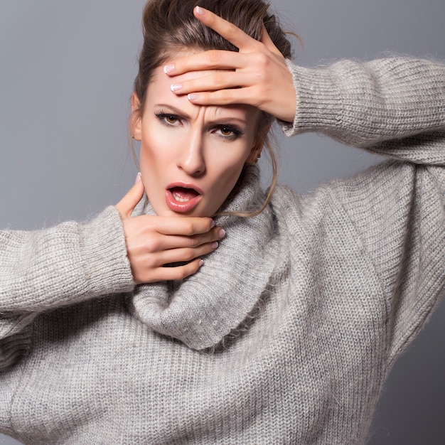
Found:
[[[282,123],[289,136],[321,132],[343,144],[383,153],[387,141],[402,146],[404,139],[418,134],[445,141],[444,65],[392,58],[342,60],[317,69],[288,66],[297,98],[293,125]],[[416,144],[415,137],[411,143]],[[444,158],[442,150],[441,159],[433,163],[444,163]]]

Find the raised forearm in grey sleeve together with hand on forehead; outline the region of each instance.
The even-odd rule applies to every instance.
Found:
[[[172,84],[175,75],[187,71],[223,70],[175,85],[176,94],[188,94],[195,104],[252,105],[277,117],[289,136],[322,132],[378,154],[444,163],[440,149],[431,157],[445,128],[444,65],[389,58],[301,68],[284,60],[265,30],[255,41],[210,11],[200,8],[194,14],[239,52],[210,50],[169,63],[164,71]],[[400,142],[409,136],[413,139]],[[417,146],[415,154],[407,144]]]

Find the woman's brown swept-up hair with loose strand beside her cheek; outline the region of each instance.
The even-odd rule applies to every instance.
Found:
[[[140,118],[146,101],[146,92],[154,70],[166,63],[183,48],[196,50],[238,49],[225,38],[204,26],[193,16],[195,6],[202,6],[225,18],[255,40],[260,40],[262,26],[285,58],[291,58],[291,44],[279,26],[277,18],[269,12],[264,0],[149,0],[142,16],[144,43],[139,55],[139,73],[134,80],[134,92],[139,98],[139,108],[132,118]],[[254,213],[236,213],[254,216],[266,208],[277,182],[277,161],[269,141],[268,131],[273,117],[261,112],[257,122],[257,141],[267,147],[272,161],[273,178],[267,199]]]

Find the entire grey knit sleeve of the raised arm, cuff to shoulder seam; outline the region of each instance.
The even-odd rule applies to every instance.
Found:
[[[298,109],[282,122],[286,134],[321,132],[393,159],[331,188],[380,277],[391,364],[445,289],[445,66],[393,58],[289,68]]]

